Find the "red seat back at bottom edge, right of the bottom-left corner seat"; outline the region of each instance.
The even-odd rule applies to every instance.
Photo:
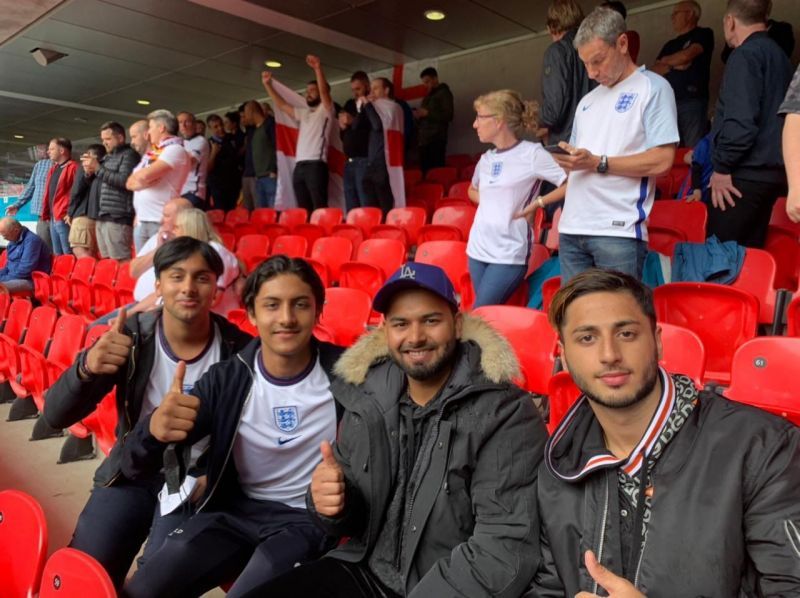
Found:
[[[103,566],[74,548],[61,548],[48,559],[39,598],[116,598]]]

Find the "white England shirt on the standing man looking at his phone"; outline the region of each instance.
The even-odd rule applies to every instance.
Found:
[[[641,67],[614,87],[600,85],[581,99],[570,145],[614,157],[677,143],[679,138],[672,87]],[[572,172],[558,232],[646,241],[645,219],[654,197],[654,177]]]

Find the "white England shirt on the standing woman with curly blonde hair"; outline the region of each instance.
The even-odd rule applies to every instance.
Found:
[[[520,141],[481,156],[472,185],[480,193],[469,233],[467,255],[490,264],[528,263],[532,234],[524,218],[514,218],[539,195],[542,180],[559,186],[567,178],[540,143]]]

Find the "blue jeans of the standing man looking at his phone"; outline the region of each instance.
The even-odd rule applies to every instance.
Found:
[[[589,268],[616,270],[642,279],[647,243],[627,237],[593,235],[558,236],[558,260],[562,286]]]

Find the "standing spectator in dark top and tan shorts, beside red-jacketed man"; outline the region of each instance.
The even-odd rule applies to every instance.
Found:
[[[69,246],[77,258],[97,254],[97,214],[100,210],[100,189],[103,182],[97,177],[96,164],[105,158],[106,148],[99,143],[86,148],[81,156],[81,168],[75,173],[75,183],[67,208]]]

